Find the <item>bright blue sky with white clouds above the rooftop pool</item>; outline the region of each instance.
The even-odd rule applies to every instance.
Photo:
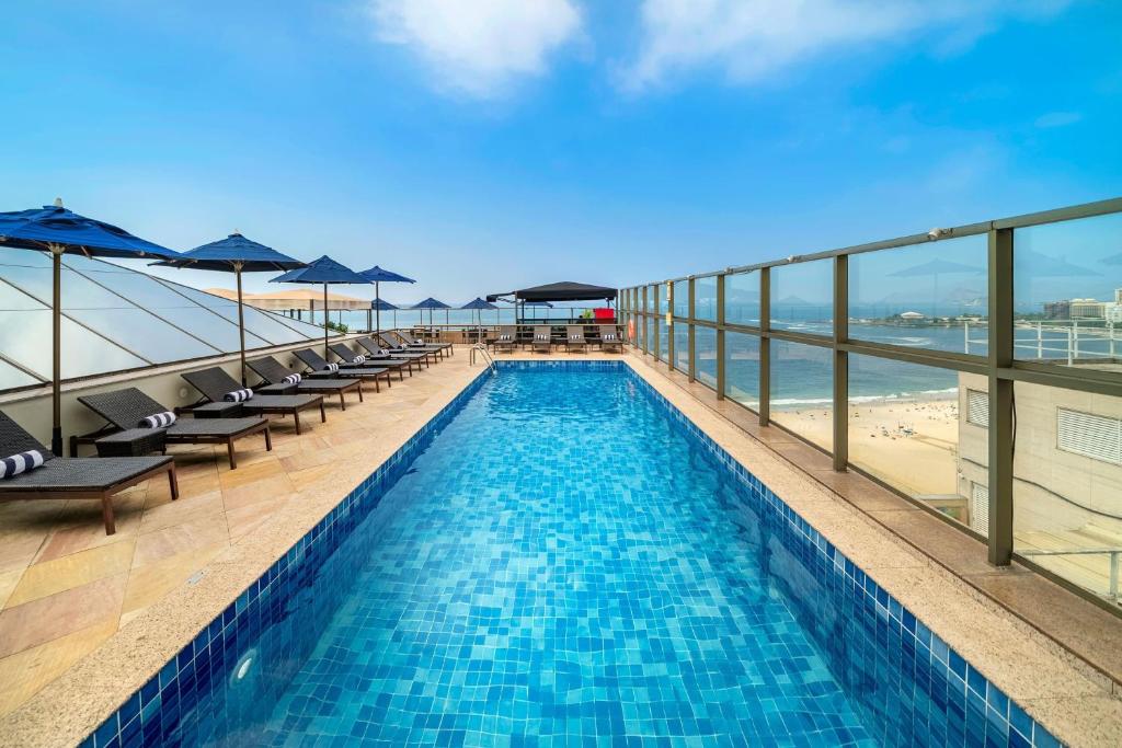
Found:
[[[1122,194],[1116,2],[103,0],[4,26],[0,210],[61,195],[175,249],[237,228],[419,278],[399,302]]]

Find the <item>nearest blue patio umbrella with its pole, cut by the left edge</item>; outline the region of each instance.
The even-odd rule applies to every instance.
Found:
[[[63,453],[62,431],[62,256],[153,257],[173,259],[178,252],[134,237],[111,223],[79,215],[63,207],[62,200],[42,209],[0,213],[0,247],[50,252],[53,273],[50,451]]]

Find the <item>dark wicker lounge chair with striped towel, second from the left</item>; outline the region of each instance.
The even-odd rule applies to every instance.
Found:
[[[116,431],[137,428],[140,421],[169,408],[151,399],[136,387],[118,389],[112,393],[83,395],[77,401],[90,408],[109,422],[109,426],[96,434],[111,434]],[[164,430],[164,441],[168,444],[226,444],[230,458],[230,470],[238,468],[233,454],[233,442],[254,434],[265,434],[265,450],[273,449],[269,436],[269,422],[266,418],[177,418],[174,424]],[[72,442],[73,443],[73,442]],[[74,449],[71,447],[73,454]]]

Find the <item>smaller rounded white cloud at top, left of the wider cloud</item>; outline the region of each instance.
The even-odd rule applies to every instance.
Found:
[[[545,73],[581,28],[573,0],[365,1],[379,41],[412,48],[438,85],[478,98]]]

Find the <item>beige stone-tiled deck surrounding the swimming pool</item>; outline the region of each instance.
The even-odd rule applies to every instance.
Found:
[[[166,482],[118,501],[0,505],[0,745],[82,739],[477,376],[466,348],[274,450],[174,447]],[[507,358],[542,360],[530,353]],[[1122,745],[1122,620],[927,516],[779,428],[636,353],[623,359],[795,511],[1070,745]],[[1048,631],[1046,636],[1041,630]],[[1075,653],[1078,653],[1077,656]]]

